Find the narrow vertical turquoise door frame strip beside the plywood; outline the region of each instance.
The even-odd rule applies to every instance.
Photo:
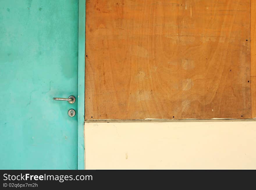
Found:
[[[77,169],[80,170],[84,169],[85,1],[79,0],[78,26]]]

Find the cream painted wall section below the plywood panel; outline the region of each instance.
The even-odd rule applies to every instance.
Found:
[[[85,123],[85,169],[256,169],[256,122]]]

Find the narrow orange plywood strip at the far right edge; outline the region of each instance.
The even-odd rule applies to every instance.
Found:
[[[252,117],[256,117],[256,1],[251,0],[251,25],[250,25],[250,51],[251,51],[251,100]]]

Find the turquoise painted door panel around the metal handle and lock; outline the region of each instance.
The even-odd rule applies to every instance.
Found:
[[[78,0],[0,0],[0,169],[77,169]]]

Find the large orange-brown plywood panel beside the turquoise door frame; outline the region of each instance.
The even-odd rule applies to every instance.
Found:
[[[87,0],[86,56],[86,120],[252,117],[250,0]]]

